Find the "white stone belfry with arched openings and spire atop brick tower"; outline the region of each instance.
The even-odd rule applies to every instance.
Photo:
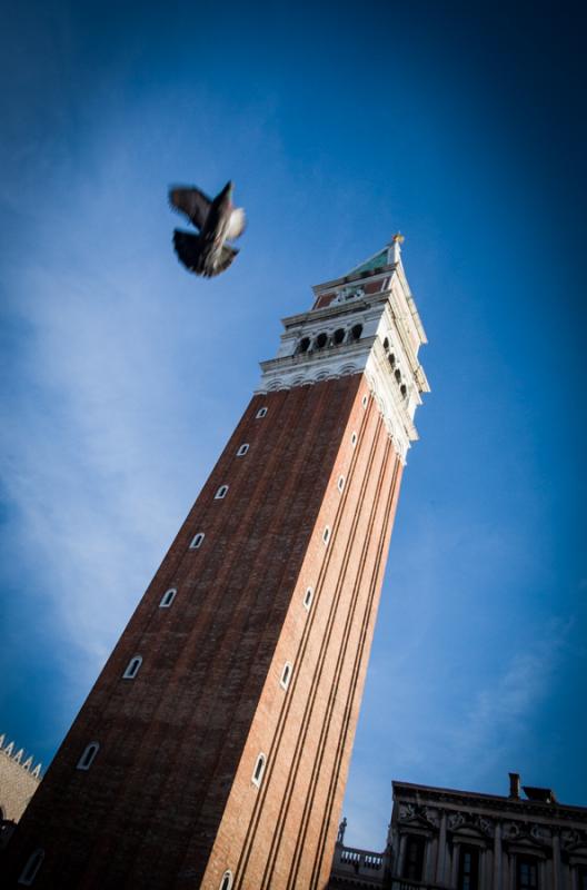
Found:
[[[277,356],[261,363],[257,393],[365,374],[401,459],[418,438],[414,425],[429,392],[418,362],[426,335],[409,289],[399,244],[344,278],[314,288],[315,307],[283,319]]]

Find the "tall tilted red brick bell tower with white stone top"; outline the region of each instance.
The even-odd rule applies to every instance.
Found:
[[[11,886],[326,886],[428,392],[400,240],[285,319],[10,844]]]

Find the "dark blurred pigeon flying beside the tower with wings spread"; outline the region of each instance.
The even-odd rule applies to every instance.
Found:
[[[213,200],[195,186],[169,189],[171,207],[185,214],[200,230],[199,235],[181,229],[173,231],[176,254],[196,275],[211,278],[227,269],[238,254],[235,247],[225,244],[238,238],[245,229],[245,210],[233,207],[232,189],[232,182],[227,182]]]

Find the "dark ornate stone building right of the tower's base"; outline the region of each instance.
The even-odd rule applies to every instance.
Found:
[[[516,773],[508,797],[392,787],[385,852],[337,843],[331,890],[587,890],[587,808]]]

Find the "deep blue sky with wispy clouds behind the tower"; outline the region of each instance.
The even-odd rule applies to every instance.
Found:
[[[0,731],[50,760],[279,319],[401,229],[432,393],[347,840],[392,778],[587,804],[579,4],[209,6],[3,4]],[[166,189],[228,178],[202,281]]]

